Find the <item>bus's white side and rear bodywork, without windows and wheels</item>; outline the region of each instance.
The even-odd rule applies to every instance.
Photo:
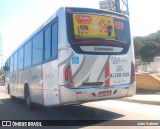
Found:
[[[55,18],[58,19],[57,58],[11,73],[7,83],[11,95],[24,99],[27,84],[32,102],[56,106],[135,94],[135,80],[131,81],[134,75],[132,66],[135,64],[132,41],[125,54],[80,54],[72,48],[68,39],[66,8],[60,8],[51,19]],[[49,22],[52,22],[51,19]],[[47,24],[50,23],[44,25]],[[94,51],[93,46],[89,48],[84,45],[81,49]],[[109,47],[98,46],[99,50],[103,48]],[[112,49],[119,51],[119,48]]]

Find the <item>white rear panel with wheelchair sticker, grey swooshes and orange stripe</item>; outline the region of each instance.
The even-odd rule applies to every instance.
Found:
[[[96,82],[97,85],[98,82],[102,82],[100,86],[130,83],[131,60],[128,55],[74,55],[71,57],[70,64],[75,87],[93,86],[91,83],[95,83],[96,86]]]

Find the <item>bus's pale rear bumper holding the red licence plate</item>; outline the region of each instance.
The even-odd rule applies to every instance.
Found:
[[[105,92],[107,94],[100,95]],[[135,83],[120,85],[120,86],[109,86],[109,87],[94,87],[94,88],[76,88],[69,89],[65,86],[60,86],[60,103],[81,103],[90,101],[99,101],[107,99],[116,99],[120,97],[133,96],[136,94]]]

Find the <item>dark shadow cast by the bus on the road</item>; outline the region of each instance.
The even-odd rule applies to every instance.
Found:
[[[0,116],[2,116],[0,119],[2,120],[49,120],[49,122],[58,122],[53,123],[58,126],[62,124],[62,126],[75,125],[86,127],[99,124],[101,125],[101,123],[108,123],[111,120],[124,117],[123,114],[111,112],[105,109],[88,107],[85,105],[57,106],[48,108],[40,105],[34,105],[34,109],[29,111],[26,109],[24,101],[20,99],[11,100],[8,98],[2,99],[2,101],[4,103],[0,107]]]

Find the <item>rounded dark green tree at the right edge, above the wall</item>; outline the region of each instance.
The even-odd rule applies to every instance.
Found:
[[[154,41],[147,41],[140,49],[142,61],[151,62],[155,56],[160,55],[159,44]]]

